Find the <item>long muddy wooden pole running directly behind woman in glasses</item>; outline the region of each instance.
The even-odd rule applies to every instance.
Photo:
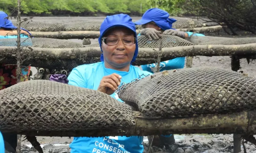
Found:
[[[155,63],[159,48],[139,48],[139,53],[133,65]],[[82,64],[100,61],[100,47],[83,48],[35,48],[21,49],[22,64],[47,69],[73,69]],[[16,64],[16,47],[0,47],[0,62]],[[193,45],[162,48],[161,61],[185,56],[243,56],[256,55],[256,43],[243,45]]]

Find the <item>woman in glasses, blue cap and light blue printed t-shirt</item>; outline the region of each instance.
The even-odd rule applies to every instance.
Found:
[[[68,84],[98,90],[123,102],[115,90],[122,83],[150,75],[132,66],[138,54],[135,24],[128,15],[107,16],[100,27],[101,62],[74,68]],[[142,136],[74,137],[71,153],[142,153]]]

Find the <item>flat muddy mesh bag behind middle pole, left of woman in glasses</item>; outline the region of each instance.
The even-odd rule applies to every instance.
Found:
[[[17,39],[0,39],[0,46],[17,46]],[[20,38],[21,46],[38,48],[81,48],[84,45],[69,40],[53,38]]]

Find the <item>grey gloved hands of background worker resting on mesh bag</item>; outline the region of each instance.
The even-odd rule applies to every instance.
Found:
[[[178,31],[178,30],[173,30],[173,29],[168,29],[165,30],[163,32],[163,34],[166,35],[175,35],[178,37],[181,37],[183,39],[185,39],[186,37],[188,37],[188,34],[186,32],[183,31]],[[141,35],[145,35],[147,36],[149,41],[153,41],[153,40],[159,40],[162,37],[161,31],[157,31],[154,28],[145,28],[141,30]]]

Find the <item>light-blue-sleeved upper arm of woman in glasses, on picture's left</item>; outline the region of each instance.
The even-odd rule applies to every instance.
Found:
[[[79,72],[80,67],[73,68],[68,76],[68,84],[78,86],[78,87],[87,87],[86,76]]]

